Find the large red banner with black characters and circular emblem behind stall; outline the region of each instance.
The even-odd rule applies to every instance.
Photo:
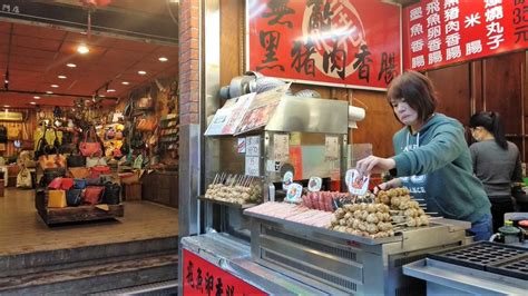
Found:
[[[248,67],[296,82],[385,89],[401,72],[400,7],[248,0]]]

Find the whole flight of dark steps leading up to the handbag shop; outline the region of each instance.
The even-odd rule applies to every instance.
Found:
[[[175,294],[178,238],[0,257],[0,295]]]

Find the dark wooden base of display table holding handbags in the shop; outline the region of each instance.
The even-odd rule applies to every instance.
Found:
[[[48,208],[48,203],[46,199],[45,190],[36,190],[35,207],[47,225],[111,219],[123,217],[125,215],[125,206],[123,204],[108,205],[108,211],[99,209],[95,206]]]

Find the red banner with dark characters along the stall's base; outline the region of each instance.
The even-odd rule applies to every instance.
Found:
[[[267,295],[187,249],[183,256],[184,295]]]

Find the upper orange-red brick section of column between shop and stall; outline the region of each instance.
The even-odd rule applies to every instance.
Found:
[[[179,124],[199,124],[199,0],[179,2]]]

